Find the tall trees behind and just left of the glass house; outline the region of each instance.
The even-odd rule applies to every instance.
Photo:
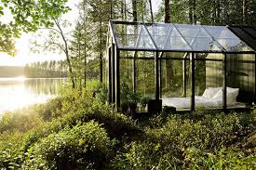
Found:
[[[91,70],[104,82],[109,20],[256,26],[255,8],[256,2],[252,0],[165,0],[153,12],[152,0],[85,0],[77,5],[74,30],[65,32],[70,23],[63,19],[64,15],[55,17],[47,27],[46,40],[35,41],[34,50],[61,51],[73,88],[81,88],[79,85],[86,86]]]

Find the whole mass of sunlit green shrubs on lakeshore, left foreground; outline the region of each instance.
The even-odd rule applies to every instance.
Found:
[[[30,166],[44,169],[52,165],[62,167],[65,163],[71,169],[78,165],[85,169],[85,164],[88,168],[100,167],[110,161],[113,151],[118,148],[112,148],[112,150],[107,148],[113,145],[112,142],[116,141],[115,144],[119,143],[118,145],[121,145],[128,138],[136,137],[137,134],[140,136],[141,129],[131,118],[113,111],[112,106],[102,104],[97,98],[93,98],[91,91],[85,90],[81,94],[78,90],[64,90],[62,93],[60,98],[53,99],[45,104],[45,108],[43,106],[36,108],[36,116],[44,118],[45,122],[41,121],[40,124],[34,122],[34,129],[22,130],[17,126],[14,128],[11,123],[12,119],[7,119],[6,132],[1,131],[0,134],[1,167],[11,166],[17,169],[23,164],[22,168],[25,169]],[[7,114],[7,117],[12,117],[12,114]],[[79,134],[79,129],[86,128],[83,123],[91,121],[95,122],[90,123],[93,128],[93,124],[98,124],[96,126],[101,124],[99,133],[98,128],[96,128],[95,131],[93,129],[89,131],[89,134],[95,136],[84,137],[83,134]],[[22,124],[27,123],[25,121]],[[103,128],[104,133],[107,133],[107,138],[101,133]],[[17,133],[11,133],[15,129]],[[81,136],[84,137],[84,141]],[[109,143],[109,137],[112,139],[111,144]],[[97,144],[98,140],[99,143]],[[79,145],[79,142],[85,143]],[[91,143],[93,144],[91,147],[96,148],[93,149],[93,152],[89,151],[92,149],[88,149]],[[81,145],[85,150],[80,150]],[[52,147],[56,150],[53,150]],[[47,150],[48,148],[52,150]],[[59,161],[54,160],[55,156],[57,159],[57,153],[61,150],[65,151],[59,155]],[[70,150],[70,152],[67,150]],[[76,155],[76,153],[79,154]],[[87,155],[91,157],[88,158]],[[72,156],[76,156],[75,162],[70,159]]]

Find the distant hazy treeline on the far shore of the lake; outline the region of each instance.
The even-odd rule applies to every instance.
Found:
[[[30,78],[67,77],[67,66],[64,60],[49,60],[26,64],[24,74]]]

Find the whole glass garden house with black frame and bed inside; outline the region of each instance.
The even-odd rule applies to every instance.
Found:
[[[109,102],[119,110],[132,92],[176,111],[249,108],[256,99],[255,54],[252,27],[111,20]],[[138,98],[137,111],[150,108]]]

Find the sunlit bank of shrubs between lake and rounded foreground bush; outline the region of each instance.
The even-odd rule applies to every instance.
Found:
[[[101,101],[92,97],[92,92],[85,91],[80,94],[78,90],[68,90],[65,93],[66,98],[63,98],[61,108],[58,110],[61,111],[61,117],[35,128],[26,138],[25,150],[40,138],[47,137],[51,133],[58,133],[67,125],[77,124],[77,121],[95,120],[102,124],[110,137],[131,137],[133,133],[140,133],[140,129],[131,118],[113,111],[111,106],[101,104]]]

